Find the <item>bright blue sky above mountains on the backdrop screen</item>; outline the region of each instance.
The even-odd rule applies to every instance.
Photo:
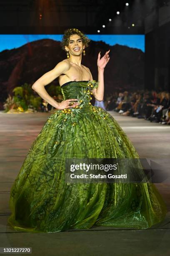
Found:
[[[110,46],[115,44],[137,48],[145,52],[145,35],[87,35],[93,41],[103,41]],[[18,48],[40,39],[61,41],[62,35],[0,35],[0,51]]]

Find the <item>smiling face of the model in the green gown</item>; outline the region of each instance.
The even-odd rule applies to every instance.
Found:
[[[68,46],[65,46],[66,51],[69,51],[72,55],[82,54],[85,46],[82,44],[82,39],[77,34],[70,36]]]

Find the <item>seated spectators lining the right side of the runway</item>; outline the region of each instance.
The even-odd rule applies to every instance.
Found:
[[[170,93],[150,91],[114,92],[107,95],[106,110],[170,125]]]

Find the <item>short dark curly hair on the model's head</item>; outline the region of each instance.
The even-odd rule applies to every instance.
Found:
[[[61,44],[60,44],[64,51],[65,51],[65,46],[68,46],[68,44],[69,44],[70,36],[71,35],[75,35],[75,34],[77,34],[77,35],[79,35],[81,37],[82,44],[84,44],[85,47],[89,46],[89,42],[91,40],[89,38],[87,38],[87,36],[85,36],[77,28],[69,28],[69,29],[64,31],[64,35],[62,36],[62,41],[61,41]]]

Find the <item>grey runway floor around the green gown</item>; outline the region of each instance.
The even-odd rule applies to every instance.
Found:
[[[168,163],[170,125],[109,113],[127,133],[141,158]],[[50,114],[0,112],[0,247],[32,247],[32,255],[36,256],[170,255],[170,183],[155,184],[167,204],[168,214],[161,225],[147,230],[95,227],[31,234],[17,232],[7,225],[10,188],[28,149]]]

